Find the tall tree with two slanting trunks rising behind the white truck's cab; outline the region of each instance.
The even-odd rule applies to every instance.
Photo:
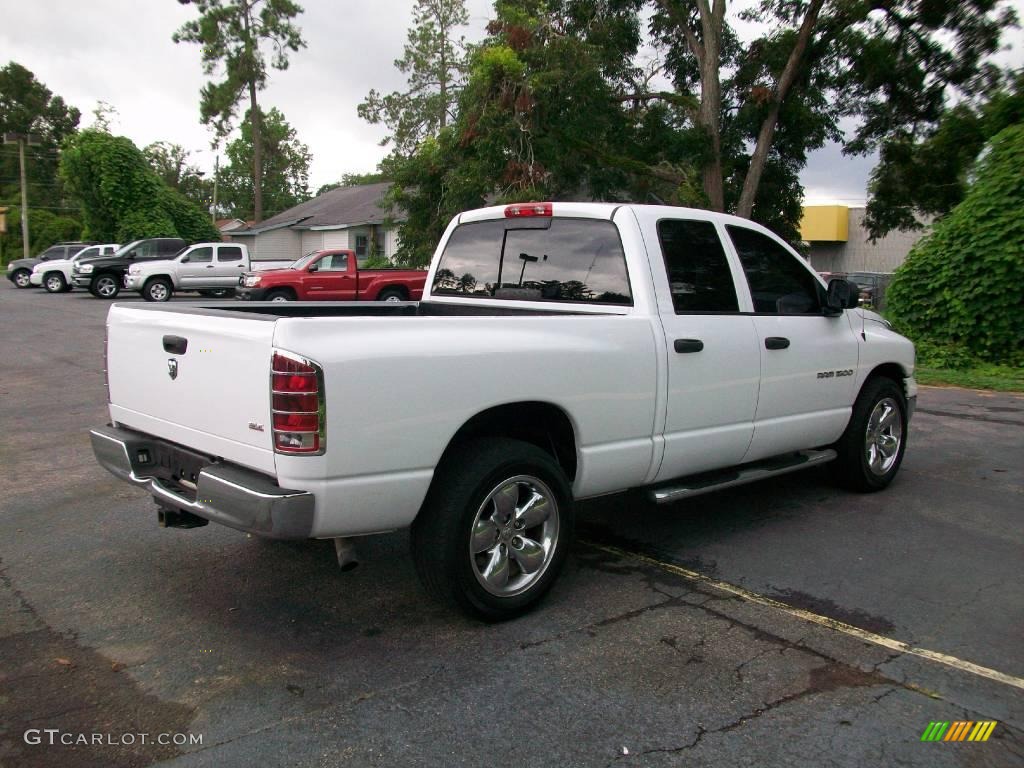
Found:
[[[731,184],[735,212],[748,217],[757,216],[787,112],[819,123],[811,131],[815,140],[835,135],[841,117],[857,119],[845,144],[851,153],[871,152],[900,133],[916,135],[950,95],[984,87],[985,59],[1015,22],[998,0],[763,0],[743,17],[764,31],[741,44],[726,20],[725,0],[654,0],[654,6],[667,72],[679,93],[699,92],[698,109],[686,117],[705,140],[708,204],[731,207]],[[735,78],[743,73],[745,82]],[[816,92],[827,97],[815,98]],[[748,121],[733,117],[744,111]],[[804,141],[788,162],[802,165],[801,154],[815,140]],[[749,155],[745,142],[754,147]],[[734,174],[727,167],[730,146],[739,156]]]

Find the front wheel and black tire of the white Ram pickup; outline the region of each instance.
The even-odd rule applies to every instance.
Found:
[[[872,423],[872,415],[883,416],[887,406],[898,412],[888,420],[888,426]],[[851,490],[882,490],[893,481],[903,463],[906,438],[906,397],[902,388],[892,379],[868,379],[853,403],[846,431],[835,445],[839,457],[831,463],[833,476]]]

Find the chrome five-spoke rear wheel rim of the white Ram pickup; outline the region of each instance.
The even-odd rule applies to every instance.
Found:
[[[492,595],[514,597],[544,575],[558,543],[558,502],[542,480],[516,475],[487,494],[473,519],[469,555]]]

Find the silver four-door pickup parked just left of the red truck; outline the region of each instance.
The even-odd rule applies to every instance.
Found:
[[[170,301],[175,291],[231,293],[249,269],[249,249],[238,243],[197,243],[173,259],[137,261],[128,267],[125,290],[146,301]]]

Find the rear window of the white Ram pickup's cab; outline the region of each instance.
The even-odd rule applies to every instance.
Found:
[[[506,229],[504,220],[459,226],[434,274],[432,293],[524,301],[632,304],[615,225],[555,218],[551,226]]]

